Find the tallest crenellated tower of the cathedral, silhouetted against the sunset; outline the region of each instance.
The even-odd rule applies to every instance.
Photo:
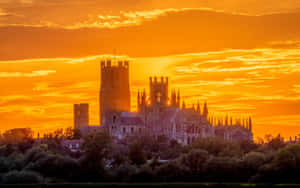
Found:
[[[129,61],[101,61],[100,123],[110,112],[130,111]]]

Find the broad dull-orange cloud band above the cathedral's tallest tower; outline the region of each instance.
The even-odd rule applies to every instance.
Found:
[[[110,17],[103,15],[101,20],[97,14],[97,23],[107,23],[113,28],[0,27],[0,35],[3,36],[0,59],[90,57],[99,52],[111,54],[113,49],[130,57],[157,57],[224,49],[272,48],[278,41],[286,41],[290,48],[297,48],[297,41],[300,40],[300,13],[245,16],[200,9],[166,9],[124,11],[123,14],[121,20],[114,14]],[[134,20],[138,24],[118,27],[118,24],[122,25],[122,20]],[[47,25],[49,23],[52,22]],[[95,21],[76,23],[89,25]],[[40,21],[38,24],[43,25]],[[27,44],[26,48],[23,44]],[[289,49],[286,45],[284,48]],[[239,57],[233,58],[236,59],[227,61],[240,60]],[[251,60],[249,63],[259,61],[250,57],[247,59]]]

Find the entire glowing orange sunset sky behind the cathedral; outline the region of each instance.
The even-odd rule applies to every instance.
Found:
[[[0,131],[99,124],[100,60],[130,59],[132,110],[149,76],[186,103],[252,116],[254,137],[300,134],[299,0],[1,0]]]

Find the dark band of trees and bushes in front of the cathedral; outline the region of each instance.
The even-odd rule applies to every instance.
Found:
[[[142,136],[124,141],[127,145],[96,132],[85,136],[75,153],[62,146],[64,137],[2,140],[0,183],[300,183],[300,145],[287,145],[280,136],[260,144],[201,138],[188,146],[164,136]]]

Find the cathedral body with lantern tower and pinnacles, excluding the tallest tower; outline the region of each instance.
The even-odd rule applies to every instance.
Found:
[[[124,139],[138,135],[164,135],[184,145],[191,144],[197,138],[216,136],[226,140],[252,140],[251,119],[246,121],[247,125],[238,121],[233,124],[232,120],[230,126],[215,125],[215,118],[209,116],[206,102],[202,110],[199,103],[196,107],[186,108],[184,101],[180,105],[179,90],[173,90],[169,98],[167,77],[154,77],[149,81],[149,95],[145,90],[138,92],[137,113],[115,112],[108,116],[105,128],[113,137]]]

